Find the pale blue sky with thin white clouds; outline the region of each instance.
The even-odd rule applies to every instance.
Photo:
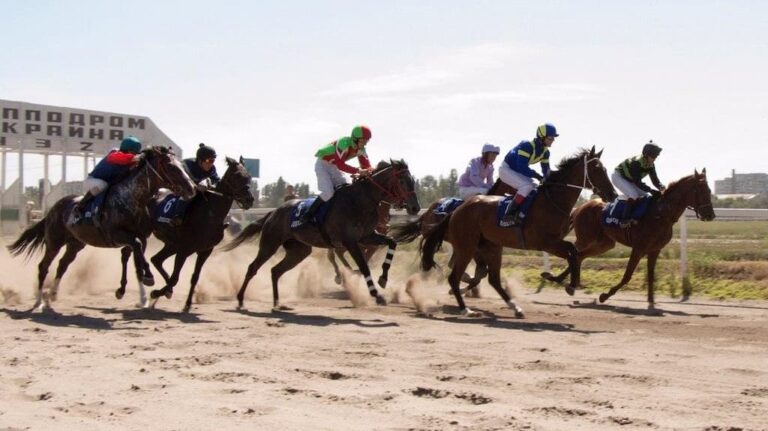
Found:
[[[461,173],[486,142],[503,157],[544,122],[553,164],[594,145],[612,169],[653,139],[663,182],[768,172],[764,1],[0,7],[0,99],[147,116],[185,156],[216,148],[222,172],[223,155],[260,159],[260,186],[316,189],[315,151],[359,123],[374,163],[405,159],[417,178]]]

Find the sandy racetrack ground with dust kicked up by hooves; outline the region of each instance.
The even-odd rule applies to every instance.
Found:
[[[409,296],[397,256],[377,307],[318,255],[282,280],[293,311],[270,312],[267,270],[236,311],[255,250],[215,254],[187,315],[192,262],[147,311],[133,277],[114,298],[117,251],[86,249],[40,314],[39,255],[0,252],[0,429],[768,429],[768,303],[662,297],[649,315],[636,294],[518,285],[518,320],[484,285],[471,319],[439,280]]]

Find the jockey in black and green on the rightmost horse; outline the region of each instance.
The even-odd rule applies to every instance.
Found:
[[[627,197],[627,205],[624,206],[624,214],[620,223],[621,227],[637,224],[637,220],[630,218],[632,204],[636,199],[644,198],[648,196],[648,193],[658,197],[664,191],[665,187],[659,181],[659,177],[656,175],[656,166],[654,165],[660,153],[661,147],[654,144],[653,141],[648,141],[643,146],[642,155],[624,160],[616,166],[616,170],[611,174],[613,185]],[[643,183],[642,179],[646,175],[650,175],[651,182],[658,190],[654,190]]]

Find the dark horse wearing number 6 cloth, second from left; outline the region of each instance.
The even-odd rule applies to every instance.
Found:
[[[183,313],[189,311],[192,306],[192,298],[195,294],[195,286],[200,278],[200,271],[205,261],[213,252],[213,248],[224,238],[224,218],[232,209],[232,203],[237,202],[242,209],[248,209],[253,205],[251,194],[251,175],[240,162],[227,157],[227,171],[212,191],[198,193],[189,203],[184,221],[180,226],[172,226],[168,223],[160,223],[152,217],[152,233],[163,242],[163,248],[152,258],[152,264],[157,268],[165,280],[162,289],[153,290],[150,293],[150,306],[154,307],[158,298],[173,296],[173,287],[179,282],[179,273],[187,258],[197,253],[195,270],[189,287],[189,295],[184,305]],[[163,203],[167,194],[156,196],[149,203],[150,214],[155,214],[157,206]],[[176,256],[173,262],[173,271],[169,275],[163,269],[163,262],[171,256]],[[123,255],[123,265],[127,262]]]

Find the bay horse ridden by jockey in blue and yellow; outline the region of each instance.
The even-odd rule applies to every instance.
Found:
[[[507,306],[515,311],[518,318],[524,317],[523,310],[515,304],[501,286],[501,252],[503,247],[546,251],[567,259],[574,271],[571,284],[566,288],[569,294],[578,286],[579,268],[576,248],[563,238],[567,233],[568,217],[579,198],[581,190],[593,190],[601,198],[612,200],[616,197],[605,167],[600,161],[602,151],[595,153],[595,147],[581,150],[566,158],[552,171],[539,186],[525,223],[521,227],[499,227],[497,213],[503,197],[478,195],[470,198],[449,214],[435,229],[429,232],[421,244],[421,267],[428,271],[435,267],[434,256],[443,240],[453,245],[453,267],[448,282],[456,297],[461,314],[476,317],[479,313],[470,310],[459,291],[459,282],[469,261],[480,255],[488,265],[488,281]]]

